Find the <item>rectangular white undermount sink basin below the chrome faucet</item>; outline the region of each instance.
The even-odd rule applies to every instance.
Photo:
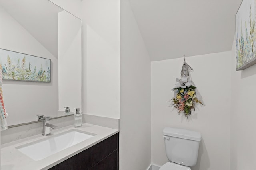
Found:
[[[72,129],[64,133],[49,136],[48,139],[41,139],[16,147],[16,149],[33,160],[41,160],[56,152],[60,152],[61,150],[89,139],[94,135],[88,135],[83,131]]]

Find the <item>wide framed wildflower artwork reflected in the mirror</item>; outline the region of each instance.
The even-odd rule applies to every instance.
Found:
[[[0,49],[3,80],[51,82],[51,60]]]

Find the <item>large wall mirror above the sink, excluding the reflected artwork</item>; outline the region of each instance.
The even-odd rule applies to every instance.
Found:
[[[0,0],[0,25],[1,49],[51,60],[50,82],[3,80],[8,126],[81,108],[81,20],[48,0]],[[0,53],[1,65],[6,55]],[[12,62],[17,68],[17,60]]]

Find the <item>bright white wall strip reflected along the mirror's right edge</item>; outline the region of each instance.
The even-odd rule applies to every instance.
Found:
[[[59,110],[82,107],[82,25],[66,11],[58,13]]]

